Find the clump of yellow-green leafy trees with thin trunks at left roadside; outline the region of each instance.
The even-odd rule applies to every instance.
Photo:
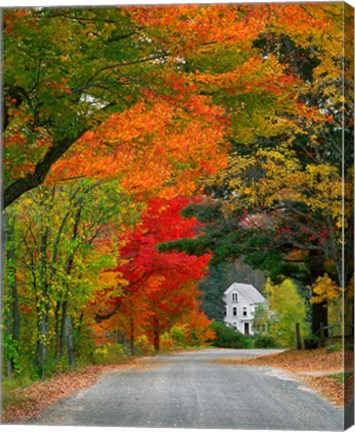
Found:
[[[99,271],[115,263],[101,243],[117,223],[128,223],[129,206],[117,183],[87,180],[41,186],[7,211],[3,325],[12,369],[14,349],[22,361],[32,361],[33,351],[42,377],[65,354],[74,366],[86,303],[100,286]]]

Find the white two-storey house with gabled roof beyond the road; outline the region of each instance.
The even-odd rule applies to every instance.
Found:
[[[254,334],[255,309],[267,305],[265,297],[253,286],[234,283],[224,292],[226,316],[224,321],[244,334]]]

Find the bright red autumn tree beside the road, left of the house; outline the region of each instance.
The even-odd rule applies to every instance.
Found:
[[[161,334],[196,306],[197,282],[210,259],[208,254],[195,257],[156,249],[162,241],[196,235],[196,219],[179,214],[187,203],[182,197],[149,202],[140,224],[122,238],[122,262],[116,271],[127,280],[127,288],[116,298],[116,305],[106,305],[106,311],[105,304],[99,306],[99,320],[116,313],[129,316],[129,337],[134,337],[134,327],[144,328],[156,350]]]

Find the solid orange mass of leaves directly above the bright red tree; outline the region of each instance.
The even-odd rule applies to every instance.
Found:
[[[118,176],[132,193],[192,195],[201,178],[226,165],[227,126],[223,109],[209,98],[188,103],[190,112],[153,99],[112,115],[55,164],[49,181]]]

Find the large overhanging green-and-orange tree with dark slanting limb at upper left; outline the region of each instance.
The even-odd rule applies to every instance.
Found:
[[[313,8],[308,32],[317,38],[329,17]],[[251,135],[274,129],[271,112],[297,114],[304,104],[292,97],[297,77],[254,42],[285,21],[304,45],[310,14],[286,5],[6,10],[5,207],[41,184],[86,131],[146,97],[185,112],[208,112],[200,98],[212,98],[238,133],[250,122]]]

